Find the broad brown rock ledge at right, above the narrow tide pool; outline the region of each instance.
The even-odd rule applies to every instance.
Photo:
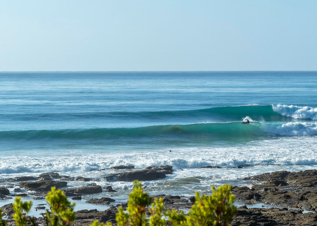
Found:
[[[266,203],[281,207],[317,211],[317,170],[278,171],[244,178],[255,180],[252,188],[233,187],[236,201]],[[262,181],[258,184],[256,181]]]

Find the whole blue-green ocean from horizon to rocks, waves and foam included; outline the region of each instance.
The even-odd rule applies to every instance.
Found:
[[[68,186],[111,185],[116,205],[133,183],[105,180],[113,166],[171,165],[165,179],[142,182],[146,192],[187,198],[210,193],[212,185],[250,186],[241,180],[247,176],[317,168],[316,71],[0,72],[0,78],[0,180],[83,176],[92,181]],[[19,185],[0,186],[15,194]],[[85,200],[109,195],[83,196],[76,208],[95,209]]]

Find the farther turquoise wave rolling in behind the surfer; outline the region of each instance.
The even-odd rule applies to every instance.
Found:
[[[295,117],[292,117],[292,115]],[[302,121],[301,116],[305,116],[306,118],[304,119],[307,121],[308,119],[317,118],[317,110],[302,107],[297,112],[293,111],[292,113],[289,106],[250,105],[183,111],[0,114],[0,131],[129,128],[149,125],[227,123],[242,121],[247,116],[253,121],[258,122]]]

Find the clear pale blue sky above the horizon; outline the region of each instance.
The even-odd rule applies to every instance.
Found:
[[[3,0],[0,71],[317,70],[315,0]]]

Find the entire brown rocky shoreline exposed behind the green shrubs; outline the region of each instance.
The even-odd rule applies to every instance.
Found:
[[[206,166],[206,168],[217,168],[216,166]],[[143,170],[134,170],[133,166],[118,166],[114,169],[123,170],[104,177],[105,180],[119,181],[149,181],[158,180],[166,177],[166,174],[172,174],[171,166],[151,166]],[[103,170],[103,169],[100,169]],[[277,171],[265,173],[252,177],[243,178],[249,180],[252,187],[233,187],[232,194],[236,195],[236,201],[246,205],[238,208],[236,216],[231,225],[317,225],[317,170],[306,170],[300,172]],[[90,186],[78,188],[67,188],[69,181],[91,181],[90,178],[69,177],[57,173],[40,174],[38,177],[16,177],[0,180],[0,199],[13,199],[10,191],[3,187],[3,183],[18,183],[20,187],[16,189],[16,196],[28,196],[22,193],[22,189],[35,192],[33,199],[44,199],[51,186],[61,188],[65,191],[69,199],[80,200],[82,195],[95,194],[103,192],[117,192],[111,186],[101,187],[94,183]],[[193,194],[194,195],[194,194]],[[185,199],[181,196],[172,195],[153,195],[153,198],[162,197],[164,199],[165,209],[188,210],[195,202],[193,197]],[[115,200],[109,197],[89,199],[86,202],[96,205],[106,205],[107,210],[97,211],[80,210],[76,211],[76,219],[73,225],[90,225],[94,220],[99,222],[111,221],[116,225],[115,214],[118,207],[126,208],[127,203],[112,205]],[[247,205],[262,204],[262,208],[247,208]],[[267,208],[266,205],[277,206]],[[12,204],[0,207],[3,215],[8,220],[9,225],[13,225]],[[36,206],[37,209],[45,209],[43,206]],[[304,212],[303,212],[304,211]],[[310,211],[310,212],[307,212]],[[42,217],[37,218],[38,223],[43,223]]]

